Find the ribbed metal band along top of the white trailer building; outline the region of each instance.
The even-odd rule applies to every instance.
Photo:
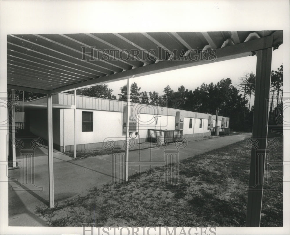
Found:
[[[74,95],[67,94],[67,93],[59,93],[58,95],[59,95],[59,104],[66,104],[66,105],[74,104]],[[53,97],[54,96],[58,98],[57,95],[53,95]],[[46,97],[44,98],[46,99]],[[42,102],[45,102],[45,101],[42,101]],[[78,109],[93,109],[93,110],[123,112],[124,104],[126,104],[126,102],[119,101],[119,100],[107,100],[107,99],[102,99],[102,98],[77,95],[77,108]],[[133,104],[132,106],[132,113],[175,116],[177,111],[182,112],[185,118],[208,119],[209,115],[211,115],[211,114],[206,114],[206,113],[197,113],[197,112],[185,111],[181,109],[172,109],[172,108],[151,106],[151,105],[145,105],[145,104]],[[215,115],[211,115],[211,116],[212,116],[212,119],[215,119]],[[230,120],[228,117],[223,117],[223,116],[219,116],[218,120],[222,120],[222,118],[225,118],[226,121]]]

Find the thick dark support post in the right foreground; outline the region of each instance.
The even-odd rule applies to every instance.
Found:
[[[266,102],[270,92],[271,61],[272,48],[258,50],[252,131],[252,141],[257,144],[257,148],[251,151],[247,227],[260,226],[269,115]]]

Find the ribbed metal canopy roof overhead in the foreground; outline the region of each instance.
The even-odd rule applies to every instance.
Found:
[[[282,40],[282,31],[8,35],[7,84],[53,94],[249,56]],[[204,59],[209,51],[206,57],[195,51],[210,49],[215,60]]]

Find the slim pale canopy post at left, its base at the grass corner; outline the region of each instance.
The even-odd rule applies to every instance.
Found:
[[[54,183],[53,183],[53,138],[52,138],[52,95],[47,96],[47,133],[48,133],[48,181],[49,181],[49,205],[54,207]]]

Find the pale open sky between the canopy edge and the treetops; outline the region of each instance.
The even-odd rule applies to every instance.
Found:
[[[164,88],[169,85],[173,91],[183,85],[188,90],[194,90],[203,82],[216,84],[223,78],[231,78],[233,86],[240,84],[239,78],[243,76],[244,72],[256,71],[257,56],[248,56],[238,59],[231,59],[222,62],[205,64],[200,66],[193,66],[189,68],[182,68],[178,70],[167,71],[163,73],[156,73],[152,75],[131,78],[130,83],[136,82],[140,91],[156,91],[163,95]],[[277,70],[283,63],[283,44],[274,50],[272,54],[271,70]],[[113,95],[119,98],[120,87],[127,84],[127,80],[111,82],[108,84],[110,89],[113,89]],[[253,100],[251,101],[253,105]]]

